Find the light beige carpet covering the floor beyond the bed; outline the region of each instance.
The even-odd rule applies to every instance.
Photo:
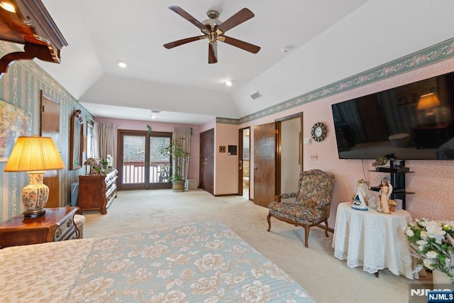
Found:
[[[107,214],[84,211],[84,216],[85,238],[220,221],[286,271],[318,302],[409,302],[411,280],[388,270],[381,270],[377,278],[362,268],[348,268],[345,260],[333,256],[333,235],[326,238],[321,228],[311,228],[309,248],[304,247],[301,227],[272,218],[267,232],[267,209],[243,197],[213,197],[200,189],[121,191]]]

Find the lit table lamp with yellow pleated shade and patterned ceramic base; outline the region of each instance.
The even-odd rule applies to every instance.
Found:
[[[19,137],[11,151],[5,172],[27,172],[30,184],[22,189],[22,202],[26,208],[23,215],[38,218],[45,214],[49,187],[43,184],[45,170],[65,168],[60,153],[52,138]]]

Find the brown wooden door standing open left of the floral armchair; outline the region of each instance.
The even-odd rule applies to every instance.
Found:
[[[254,203],[268,207],[276,192],[275,122],[254,126]]]

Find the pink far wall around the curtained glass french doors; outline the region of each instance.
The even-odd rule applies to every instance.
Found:
[[[131,131],[148,131],[147,125],[151,126],[152,131],[167,131],[172,133],[174,127],[192,128],[191,151],[189,155],[188,179],[195,179],[199,182],[199,155],[200,155],[200,126],[192,124],[160,123],[152,121],[133,121],[123,119],[96,118],[96,122],[115,123],[116,129]],[[115,138],[117,146],[117,138]],[[116,157],[114,162],[116,161]]]

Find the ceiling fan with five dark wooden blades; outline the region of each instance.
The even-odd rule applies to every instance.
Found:
[[[194,24],[194,26],[198,27],[203,35],[196,35],[194,37],[184,38],[182,40],[166,43],[164,47],[167,49],[175,48],[176,46],[196,40],[208,39],[208,62],[210,64],[218,62],[217,41],[236,46],[237,48],[247,50],[248,52],[254,54],[258,53],[258,51],[260,50],[260,47],[257,45],[253,45],[245,41],[224,35],[224,33],[226,33],[226,31],[230,30],[231,28],[234,28],[235,26],[248,21],[250,18],[253,18],[254,13],[249,9],[241,9],[240,11],[238,11],[238,13],[235,13],[224,22],[218,20],[219,13],[218,11],[214,10],[207,11],[206,16],[208,17],[208,19],[200,22],[179,6],[169,6],[169,9],[171,11],[175,11],[175,13],[179,14],[179,16],[182,16],[187,21]]]

